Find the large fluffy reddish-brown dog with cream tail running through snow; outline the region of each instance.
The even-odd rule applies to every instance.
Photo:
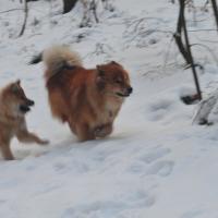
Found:
[[[95,69],[64,46],[44,51],[49,104],[53,117],[68,122],[80,141],[105,137],[132,87],[124,68],[111,61]]]

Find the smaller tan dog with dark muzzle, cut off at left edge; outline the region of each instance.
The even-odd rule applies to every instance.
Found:
[[[24,143],[48,144],[48,141],[29,133],[26,128],[25,113],[34,101],[25,96],[20,81],[10,83],[0,92],[0,150],[7,160],[14,159],[10,142],[13,136]]]

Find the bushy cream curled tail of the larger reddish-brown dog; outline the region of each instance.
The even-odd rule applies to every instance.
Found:
[[[48,80],[62,69],[82,66],[82,59],[75,51],[71,51],[68,46],[52,46],[43,52],[43,61],[47,68],[45,77]]]

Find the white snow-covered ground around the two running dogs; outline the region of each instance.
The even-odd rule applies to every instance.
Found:
[[[21,78],[36,102],[29,130],[48,147],[16,140],[14,161],[0,161],[1,218],[217,218],[218,126],[192,124],[196,106],[180,96],[193,92],[193,77],[172,41],[178,4],[169,0],[114,0],[99,7],[99,24],[78,28],[82,5],[61,15],[61,1],[29,3],[27,28],[17,37],[19,0],[0,2],[0,85]],[[217,89],[217,33],[211,13],[196,1],[187,14],[197,62],[204,65],[204,96]],[[194,14],[194,15],[193,15]],[[198,22],[196,22],[198,21]],[[196,29],[208,29],[196,32]],[[134,88],[105,140],[77,143],[53,120],[47,102],[43,63],[31,58],[52,44],[77,50],[87,68],[121,62]]]

